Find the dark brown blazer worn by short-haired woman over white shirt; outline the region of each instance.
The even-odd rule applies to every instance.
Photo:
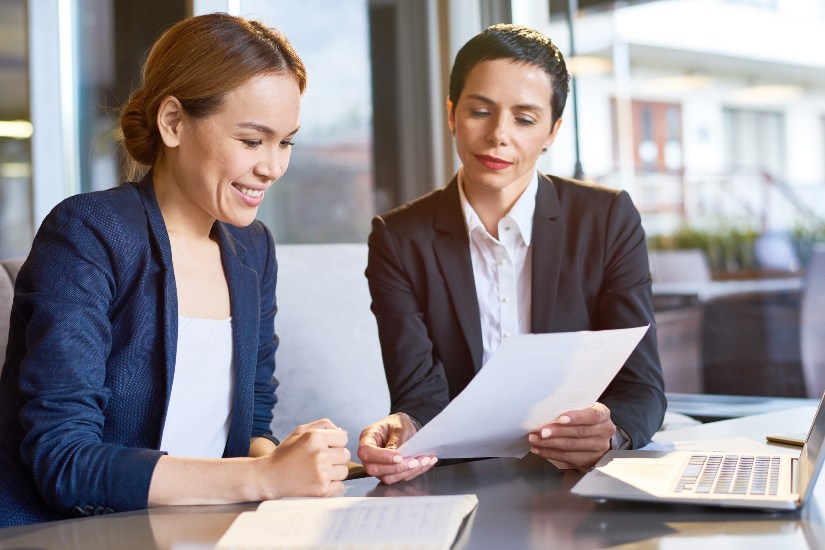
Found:
[[[540,176],[530,248],[532,332],[650,324],[600,398],[634,448],[647,444],[666,401],[645,234],[630,197]],[[481,368],[481,321],[456,178],[373,220],[366,275],[392,412],[426,423]]]

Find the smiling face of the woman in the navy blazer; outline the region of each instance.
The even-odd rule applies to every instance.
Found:
[[[290,74],[250,79],[206,118],[186,114],[167,98],[158,113],[166,147],[155,167],[155,189],[170,231],[208,232],[216,219],[252,223],[266,190],[289,164],[300,102]]]

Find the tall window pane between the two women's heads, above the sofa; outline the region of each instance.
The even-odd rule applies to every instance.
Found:
[[[280,29],[307,67],[289,170],[258,217],[277,242],[364,242],[375,207],[366,0],[244,0],[240,14]]]

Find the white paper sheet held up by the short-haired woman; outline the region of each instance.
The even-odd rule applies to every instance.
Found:
[[[511,336],[398,451],[407,457],[521,458],[530,450],[527,434],[598,400],[648,326]]]

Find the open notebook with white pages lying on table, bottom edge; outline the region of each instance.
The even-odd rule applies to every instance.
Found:
[[[215,548],[447,550],[477,505],[476,495],[270,500],[240,514]]]

